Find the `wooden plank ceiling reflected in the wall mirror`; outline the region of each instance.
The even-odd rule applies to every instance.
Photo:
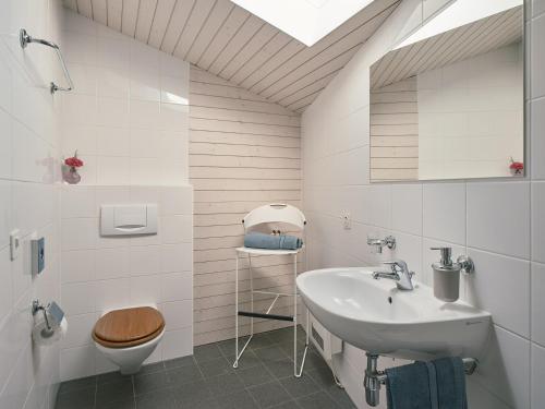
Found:
[[[520,41],[523,32],[524,13],[519,5],[399,48],[373,64],[371,87],[377,89]]]

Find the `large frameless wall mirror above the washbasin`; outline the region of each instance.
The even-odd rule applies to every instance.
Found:
[[[372,182],[523,176],[523,22],[453,1],[371,67]]]

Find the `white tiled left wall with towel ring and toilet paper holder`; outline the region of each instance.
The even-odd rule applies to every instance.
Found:
[[[56,0],[5,0],[0,12],[0,408],[52,408],[59,346],[33,345],[33,299],[59,300],[59,106],[48,84],[61,81],[55,53],[29,45],[19,29],[60,39]],[[22,253],[10,260],[9,234],[19,228]],[[46,269],[29,270],[29,239],[46,239]]]

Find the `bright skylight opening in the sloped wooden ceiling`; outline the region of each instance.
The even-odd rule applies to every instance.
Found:
[[[374,0],[231,0],[311,47]]]

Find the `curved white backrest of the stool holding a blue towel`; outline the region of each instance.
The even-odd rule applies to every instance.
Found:
[[[254,208],[244,216],[242,222],[245,229],[267,222],[284,222],[303,230],[306,219],[303,213],[295,206],[283,203],[271,203]]]

